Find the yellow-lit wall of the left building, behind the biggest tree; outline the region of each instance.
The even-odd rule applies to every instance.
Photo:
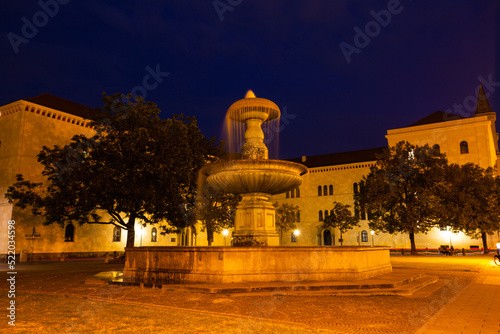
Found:
[[[88,121],[81,117],[47,108],[24,100],[0,107],[0,254],[7,253],[7,226],[9,220],[16,222],[16,250],[31,249],[39,244],[43,251],[65,251],[64,231],[60,240],[60,227],[41,226],[40,217],[29,210],[13,208],[3,196],[17,174],[26,180],[43,181],[43,166],[38,163],[37,155],[43,146],[64,146],[75,134],[92,135],[94,130],[87,126]],[[36,226],[41,237],[36,241],[27,239]],[[99,229],[98,229],[99,231]],[[43,234],[42,234],[43,233]],[[97,242],[102,232],[96,233]],[[90,238],[88,238],[91,240]],[[83,239],[82,239],[83,240]],[[90,241],[78,243],[78,249],[92,244]],[[96,243],[98,245],[99,243]],[[73,246],[74,247],[74,246]],[[96,248],[97,246],[93,246]],[[92,248],[92,247],[91,247]]]

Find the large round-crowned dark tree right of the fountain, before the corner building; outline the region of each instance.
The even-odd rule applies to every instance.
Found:
[[[416,254],[415,233],[440,223],[438,188],[445,183],[444,154],[428,145],[399,142],[387,148],[360,182],[356,200],[368,212],[369,226],[388,233],[408,233]]]

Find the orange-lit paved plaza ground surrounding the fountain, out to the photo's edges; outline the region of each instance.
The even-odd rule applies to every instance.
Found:
[[[500,267],[492,257],[392,256],[398,271],[439,277],[411,296],[207,294],[108,285],[93,276],[123,265],[102,260],[18,264],[16,326],[3,317],[0,331],[500,333]],[[5,282],[0,305],[7,306]]]

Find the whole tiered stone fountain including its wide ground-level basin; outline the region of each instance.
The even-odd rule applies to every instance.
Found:
[[[240,194],[234,246],[127,248],[123,280],[132,282],[237,283],[357,280],[392,271],[388,247],[280,247],[271,195],[297,188],[305,166],[268,159],[263,122],[278,106],[248,91],[228,117],[246,125],[242,159],[213,163],[201,171],[211,188]]]

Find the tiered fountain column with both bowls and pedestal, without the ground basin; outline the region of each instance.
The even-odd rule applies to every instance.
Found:
[[[210,164],[201,173],[216,191],[242,196],[235,217],[235,246],[278,246],[275,208],[269,198],[300,186],[307,168],[294,162],[268,159],[261,125],[279,118],[280,110],[274,102],[257,98],[249,90],[227,113],[233,121],[246,124],[242,159]]]

